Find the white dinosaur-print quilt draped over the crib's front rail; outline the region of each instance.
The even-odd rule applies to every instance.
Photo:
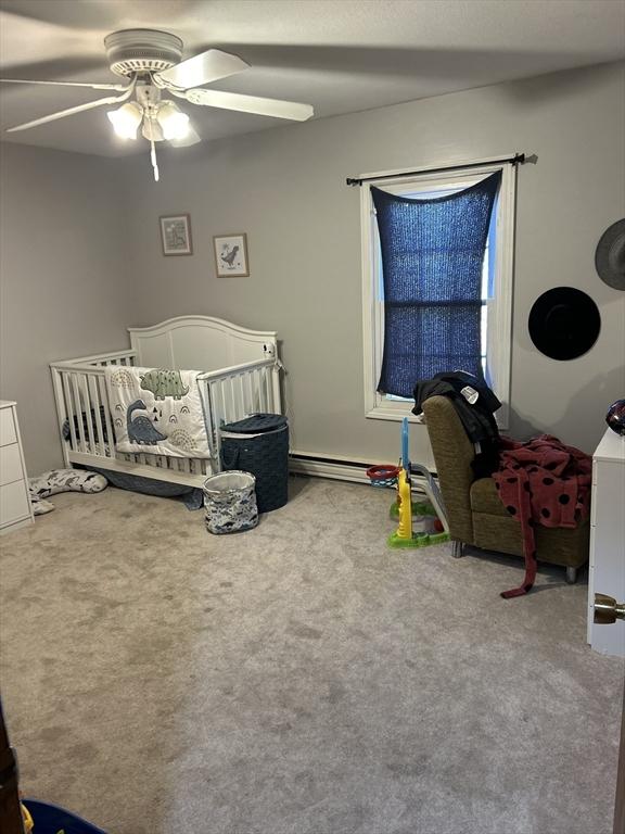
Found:
[[[104,378],[118,452],[208,458],[199,370],[107,367]]]

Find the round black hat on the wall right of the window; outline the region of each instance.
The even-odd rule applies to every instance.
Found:
[[[601,329],[592,299],[573,287],[554,287],[534,302],[528,320],[536,348],[552,359],[575,359],[587,353]]]

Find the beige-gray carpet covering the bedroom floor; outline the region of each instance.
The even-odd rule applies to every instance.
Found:
[[[26,795],[111,834],[608,834],[622,665],[587,586],[388,551],[392,494],[296,479],[254,531],[107,489],[0,540]]]

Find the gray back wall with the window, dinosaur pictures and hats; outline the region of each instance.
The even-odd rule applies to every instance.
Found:
[[[345,177],[513,151],[519,172],[511,431],[550,431],[591,451],[607,406],[624,395],[625,294],[599,280],[597,241],[625,214],[623,64],[289,125],[148,160],[126,160],[129,261],[138,316],[186,313],[276,329],[289,369],[293,446],[396,460],[399,425],[366,419],[360,228]],[[190,212],[195,253],[163,257],[160,214]],[[213,235],[246,231],[250,278],[217,278]],[[603,319],[574,362],[537,353],[526,320],[546,289],[586,290]],[[424,427],[412,457],[430,459]]]

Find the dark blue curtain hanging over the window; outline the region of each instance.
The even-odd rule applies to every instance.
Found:
[[[419,379],[448,370],[482,379],[482,267],[500,179],[428,200],[371,188],[384,281],[381,393],[409,397]]]

